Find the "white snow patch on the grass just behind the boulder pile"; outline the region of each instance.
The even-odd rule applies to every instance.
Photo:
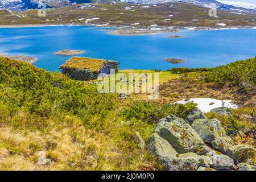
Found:
[[[200,109],[204,113],[209,112],[211,109],[214,109],[217,107],[222,107],[222,106],[232,108],[232,109],[237,109],[237,105],[230,103],[231,102],[230,100],[216,100],[214,98],[191,98],[188,101],[182,100],[182,101],[177,101],[175,103],[185,104],[185,103],[191,102],[191,101],[196,103],[198,109]],[[212,102],[214,104],[210,105],[210,103],[212,103]]]

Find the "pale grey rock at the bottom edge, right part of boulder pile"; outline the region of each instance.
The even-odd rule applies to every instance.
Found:
[[[233,165],[233,159],[227,155],[213,155],[210,157],[210,167],[214,169],[229,170]]]

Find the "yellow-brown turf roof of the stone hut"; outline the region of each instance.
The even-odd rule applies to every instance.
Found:
[[[108,60],[93,59],[90,57],[71,57],[71,59],[67,60],[63,65],[60,66],[60,68],[90,69],[91,71],[97,72],[106,62],[108,62]]]

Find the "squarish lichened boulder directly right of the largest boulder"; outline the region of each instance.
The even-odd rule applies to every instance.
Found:
[[[196,119],[192,123],[192,128],[208,144],[212,144],[213,140],[225,135],[218,119]]]

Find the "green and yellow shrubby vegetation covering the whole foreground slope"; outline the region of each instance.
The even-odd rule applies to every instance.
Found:
[[[0,57],[0,169],[164,169],[141,138],[147,143],[161,118],[185,119],[196,104],[174,101],[187,97],[237,102],[241,107],[230,109],[231,115],[206,115],[219,119],[226,133],[234,133],[235,144],[255,147],[255,61],[147,71],[159,73],[159,99],[132,94],[121,101],[118,94],[99,94],[97,85]],[[39,162],[42,152],[46,163]]]

